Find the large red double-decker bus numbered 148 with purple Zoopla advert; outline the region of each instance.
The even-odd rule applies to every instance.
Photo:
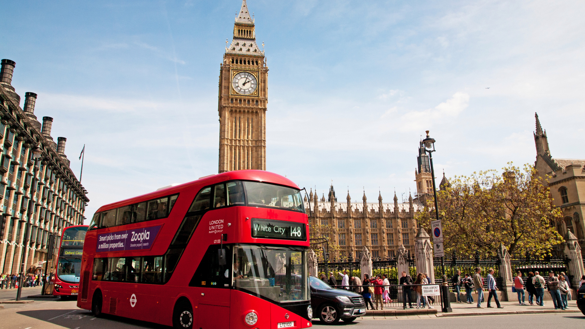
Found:
[[[77,306],[175,328],[307,328],[308,217],[262,170],[215,174],[104,205]]]

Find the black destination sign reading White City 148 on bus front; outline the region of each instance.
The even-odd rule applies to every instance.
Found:
[[[252,238],[307,241],[304,223],[252,218]]]

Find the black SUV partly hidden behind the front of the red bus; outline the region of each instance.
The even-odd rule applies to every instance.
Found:
[[[309,277],[311,285],[311,307],[313,317],[324,324],[337,323],[339,319],[352,322],[366,314],[362,295],[345,289],[335,289],[314,276]]]

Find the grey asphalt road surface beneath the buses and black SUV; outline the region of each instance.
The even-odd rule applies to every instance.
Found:
[[[90,311],[78,309],[77,301],[59,299],[36,300],[31,304],[11,304],[0,309],[0,329],[125,329],[168,327],[144,321],[130,320],[116,316],[95,318]],[[8,306],[7,304],[5,304]],[[387,329],[387,328],[563,328],[582,329],[585,316],[579,313],[565,314],[524,314],[508,316],[474,316],[445,318],[413,318],[405,320],[360,320],[346,324],[321,325],[313,321],[315,328]]]

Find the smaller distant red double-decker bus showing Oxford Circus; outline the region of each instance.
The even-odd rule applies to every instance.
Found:
[[[87,225],[75,225],[63,229],[57,254],[57,271],[53,279],[54,296],[67,298],[78,294],[83,241],[87,228]]]

